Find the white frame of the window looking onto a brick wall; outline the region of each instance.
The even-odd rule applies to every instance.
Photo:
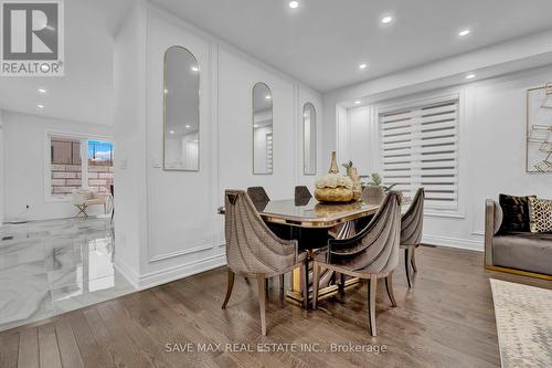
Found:
[[[55,130],[45,129],[44,130],[44,201],[46,203],[57,203],[57,202],[70,202],[71,194],[53,194],[52,193],[52,170],[51,170],[51,145],[52,137],[75,139],[81,141],[81,186],[82,188],[88,188],[88,141],[100,140],[109,141],[113,145],[115,151],[115,144],[113,137],[100,136],[86,133],[75,133],[70,130]],[[115,155],[114,155],[115,156]],[[115,166],[115,161],[114,161]]]

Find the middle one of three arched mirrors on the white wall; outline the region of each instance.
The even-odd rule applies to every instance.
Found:
[[[273,174],[273,94],[265,83],[253,87],[253,174]]]

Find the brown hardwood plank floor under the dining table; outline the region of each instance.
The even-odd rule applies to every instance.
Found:
[[[412,290],[403,257],[394,274],[399,307],[391,307],[383,281],[378,285],[378,337],[368,332],[365,283],[306,312],[285,301],[276,280],[262,337],[256,282],[236,277],[223,311],[226,270],[217,269],[0,333],[0,367],[497,367],[488,278],[552,288],[550,281],[487,272],[479,252],[422,246],[416,257]],[[273,343],[282,345],[257,351],[257,344]],[[386,351],[285,350],[285,344],[320,350],[349,343]],[[178,351],[187,344],[193,351]],[[222,349],[198,351],[197,344]],[[247,347],[255,351],[238,351]]]

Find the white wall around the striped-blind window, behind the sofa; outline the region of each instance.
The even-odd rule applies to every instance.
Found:
[[[378,169],[379,154],[367,151],[379,144],[374,106],[459,93],[459,213],[426,215],[423,241],[482,250],[485,199],[499,193],[552,198],[552,175],[526,174],[526,92],[550,81],[552,65],[350,108],[338,129],[341,156],[358,161],[362,172]]]

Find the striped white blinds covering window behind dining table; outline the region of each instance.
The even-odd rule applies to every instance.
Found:
[[[458,98],[380,114],[383,181],[413,197],[426,191],[425,208],[458,210]]]

